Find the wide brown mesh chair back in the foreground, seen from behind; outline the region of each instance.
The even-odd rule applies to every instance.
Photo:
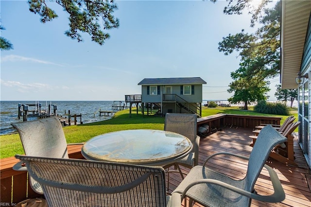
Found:
[[[16,155],[43,187],[50,207],[164,207],[165,171],[81,159]]]

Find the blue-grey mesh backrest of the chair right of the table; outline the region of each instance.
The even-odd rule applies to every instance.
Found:
[[[254,144],[253,150],[249,156],[248,167],[246,177],[246,185],[244,190],[252,191],[255,186],[255,182],[268,159],[271,150],[280,143],[286,141],[286,138],[282,136],[276,129],[270,124],[263,127],[258,135],[258,138]]]

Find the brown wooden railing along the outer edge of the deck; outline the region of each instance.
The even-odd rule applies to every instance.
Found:
[[[198,125],[207,123],[212,127],[218,128],[224,125],[233,127],[245,127],[254,129],[261,123],[280,124],[280,117],[245,116],[217,114],[198,118]],[[84,159],[81,154],[82,145],[68,145],[70,158]],[[18,162],[15,157],[3,158],[0,160],[0,203],[6,206],[15,204],[28,198],[36,198],[42,195],[36,194],[28,183],[27,172],[14,171],[12,167]]]

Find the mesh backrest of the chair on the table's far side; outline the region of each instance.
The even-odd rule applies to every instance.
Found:
[[[164,131],[183,135],[189,138],[194,146],[197,134],[197,116],[195,114],[166,113]]]

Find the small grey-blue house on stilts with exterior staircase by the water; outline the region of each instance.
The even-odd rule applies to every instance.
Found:
[[[161,114],[193,113],[201,117],[202,90],[206,82],[200,77],[192,78],[145,78],[141,86],[142,110],[158,105]]]

